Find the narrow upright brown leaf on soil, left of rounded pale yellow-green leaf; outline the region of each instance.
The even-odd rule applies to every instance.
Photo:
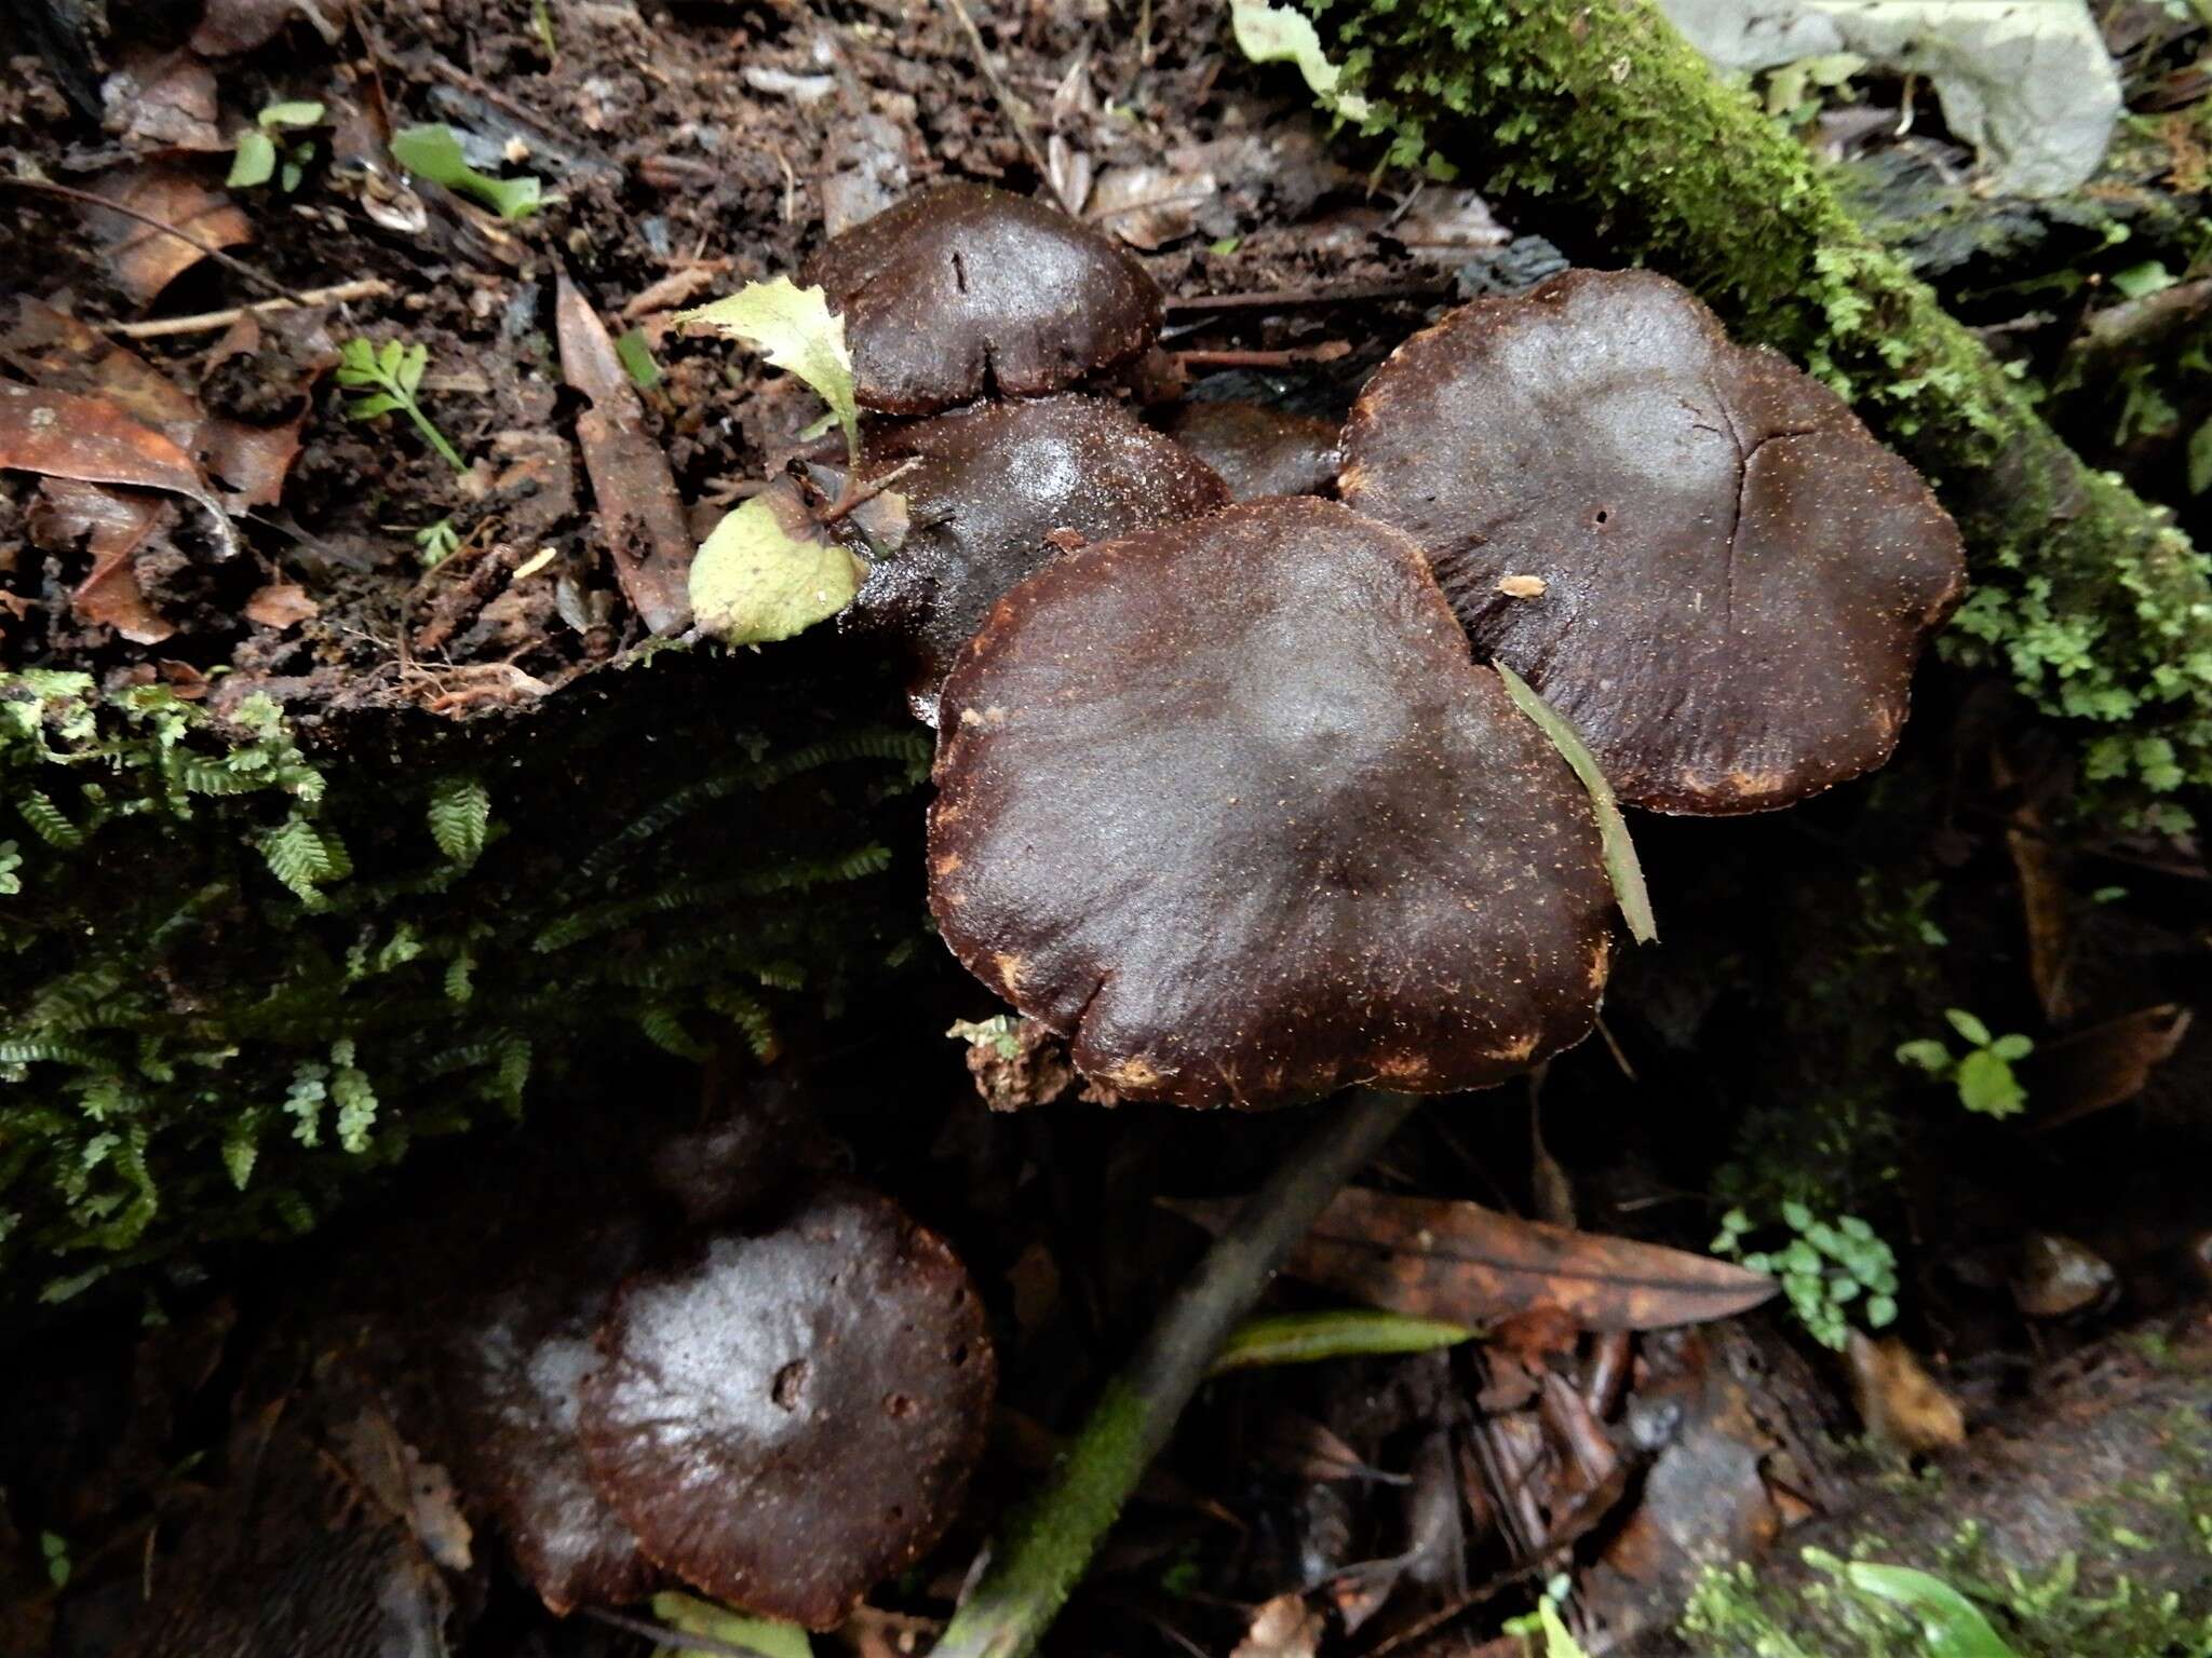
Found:
[[[553,318],[562,378],[591,398],[575,418],[575,438],[599,500],[615,579],[648,632],[688,628],[690,564],[699,548],[668,455],[646,436],[637,387],[615,356],[615,340],[566,276],[555,290]]]

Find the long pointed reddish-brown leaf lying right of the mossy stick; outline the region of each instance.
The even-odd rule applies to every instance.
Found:
[[[1210,1231],[1237,1209],[1168,1207]],[[1593,1331],[1701,1324],[1759,1307],[1776,1289],[1763,1273],[1683,1249],[1363,1187],[1338,1194],[1283,1271],[1413,1318],[1489,1324],[1557,1307]]]

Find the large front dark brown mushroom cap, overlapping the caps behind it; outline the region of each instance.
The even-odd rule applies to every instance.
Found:
[[[929,904],[1137,1099],[1486,1088],[1579,1041],[1590,802],[1398,531],[1312,497],[1071,553],[945,681]]]

